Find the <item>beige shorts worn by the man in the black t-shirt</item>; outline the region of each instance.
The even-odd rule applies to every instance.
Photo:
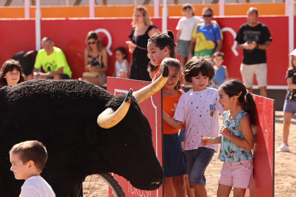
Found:
[[[258,82],[258,87],[267,86],[267,65],[262,64],[240,64],[240,73],[242,74],[242,81],[245,86],[252,87],[254,81],[254,74]]]

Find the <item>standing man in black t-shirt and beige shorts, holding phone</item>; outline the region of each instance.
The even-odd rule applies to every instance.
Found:
[[[268,28],[258,21],[258,10],[250,7],[247,11],[248,22],[242,24],[237,32],[237,49],[244,50],[240,72],[242,80],[249,90],[253,92],[254,74],[258,81],[260,96],[267,97],[267,66],[266,52],[272,40]]]

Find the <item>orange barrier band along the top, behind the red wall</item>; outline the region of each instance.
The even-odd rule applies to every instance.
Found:
[[[214,15],[219,15],[219,4],[195,4],[195,15],[200,16],[206,6],[213,8]],[[95,17],[132,17],[134,5],[95,6]],[[153,16],[153,5],[145,5],[149,16]],[[182,5],[168,5],[168,16],[183,16]],[[248,3],[225,4],[225,16],[244,16],[249,7],[257,7],[260,15],[284,15],[285,3]],[[159,6],[161,16],[162,6]],[[0,7],[0,18],[24,18],[24,7]],[[42,18],[89,17],[88,6],[41,6]],[[30,17],[35,17],[35,6],[30,7]]]

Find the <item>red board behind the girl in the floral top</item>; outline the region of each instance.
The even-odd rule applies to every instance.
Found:
[[[255,101],[254,172],[252,189],[245,197],[274,197],[274,100],[252,95]]]

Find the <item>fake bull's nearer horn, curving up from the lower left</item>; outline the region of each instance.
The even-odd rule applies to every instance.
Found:
[[[132,91],[132,88],[129,89],[129,92],[127,93],[123,103],[116,111],[114,111],[111,108],[108,108],[98,116],[97,123],[100,127],[104,129],[109,129],[111,127],[114,127],[116,124],[118,124],[118,122],[120,122],[124,118],[131,104]]]

